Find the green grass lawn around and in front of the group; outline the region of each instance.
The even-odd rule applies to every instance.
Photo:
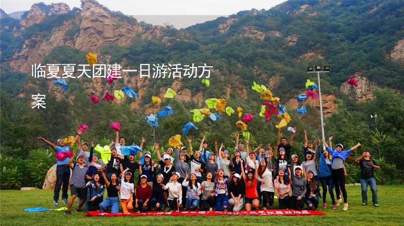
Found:
[[[348,211],[324,210],[325,216],[119,216],[86,217],[84,213],[65,216],[63,211],[26,213],[24,208],[42,206],[54,208],[53,191],[0,191],[0,223],[2,225],[403,225],[404,186],[378,186],[379,204],[361,205],[361,187],[347,186]],[[371,192],[368,190],[368,199]],[[64,206],[60,202],[59,206]],[[275,199],[275,207],[278,206]],[[322,211],[322,208],[320,208]]]

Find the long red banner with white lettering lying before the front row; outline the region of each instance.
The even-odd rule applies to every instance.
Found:
[[[102,213],[98,211],[89,211],[87,216],[215,216],[215,215],[257,215],[257,216],[269,216],[269,215],[325,215],[325,213],[313,210],[251,210],[251,211],[239,211],[239,212],[226,212],[226,211],[150,211],[141,213]]]

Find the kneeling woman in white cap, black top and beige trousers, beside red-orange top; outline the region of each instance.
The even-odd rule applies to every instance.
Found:
[[[238,212],[243,208],[244,186],[240,182],[241,176],[235,173],[229,184],[229,206],[233,207],[233,212]]]

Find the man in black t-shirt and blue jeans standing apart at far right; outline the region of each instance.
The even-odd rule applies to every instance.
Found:
[[[368,205],[368,185],[372,191],[372,202],[373,205],[378,207],[377,204],[377,188],[375,175],[373,173],[373,168],[380,170],[380,166],[377,165],[375,160],[371,159],[371,153],[364,151],[361,156],[355,159],[355,162],[361,167],[361,187],[362,187],[362,205]]]

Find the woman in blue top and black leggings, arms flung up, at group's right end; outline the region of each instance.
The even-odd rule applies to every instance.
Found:
[[[331,143],[332,137],[329,138],[329,141]],[[334,183],[336,195],[337,195],[337,206],[341,203],[341,198],[339,196],[339,192],[337,192],[339,189],[341,189],[342,192],[342,197],[344,198],[344,207],[343,210],[346,211],[348,210],[348,201],[347,201],[347,194],[346,194],[346,189],[345,189],[345,175],[344,175],[344,161],[346,157],[349,155],[349,153],[358,147],[361,146],[360,143],[355,145],[354,147],[349,148],[346,151],[343,151],[344,147],[342,144],[337,144],[335,145],[335,150],[332,150],[328,144],[323,141],[324,145],[327,148],[327,151],[331,154],[331,176],[332,176],[332,181]]]

